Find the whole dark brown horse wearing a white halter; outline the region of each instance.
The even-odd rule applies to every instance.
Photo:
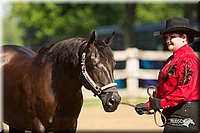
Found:
[[[10,132],[75,132],[84,86],[98,96],[106,112],[121,100],[114,83],[114,34],[96,40],[71,38],[33,51],[3,46],[4,122]],[[88,114],[90,115],[90,114]]]

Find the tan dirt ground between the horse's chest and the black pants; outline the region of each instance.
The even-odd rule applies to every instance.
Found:
[[[157,114],[159,124],[160,116]],[[78,120],[78,131],[141,131],[159,132],[163,128],[154,122],[153,115],[138,115],[132,107],[120,105],[115,112],[106,113],[101,106],[84,107]]]

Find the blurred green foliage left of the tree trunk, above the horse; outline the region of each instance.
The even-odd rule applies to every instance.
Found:
[[[23,40],[25,45],[36,49],[38,46],[62,40],[65,38],[82,36],[97,26],[120,22],[121,6],[101,4],[54,4],[54,3],[14,3],[12,17],[20,20],[20,27],[24,29]],[[115,8],[113,8],[115,7]],[[115,14],[113,19],[109,13]],[[121,15],[122,16],[122,15]]]

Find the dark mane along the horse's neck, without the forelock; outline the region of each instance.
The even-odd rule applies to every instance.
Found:
[[[79,64],[79,48],[84,38],[71,38],[39,49],[41,63],[52,62],[65,69],[76,68]]]

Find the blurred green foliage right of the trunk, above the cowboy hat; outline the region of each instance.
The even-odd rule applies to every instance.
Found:
[[[197,15],[196,4],[190,3],[154,3],[138,4],[136,8],[136,23],[164,22],[171,17],[187,17],[194,19]],[[185,13],[192,15],[186,16]]]

